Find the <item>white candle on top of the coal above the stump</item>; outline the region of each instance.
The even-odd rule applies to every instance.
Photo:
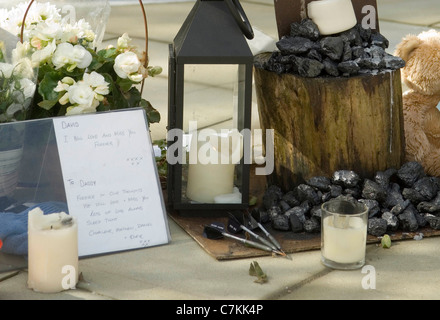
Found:
[[[322,35],[346,31],[357,23],[351,0],[312,1],[308,4],[307,11]]]

